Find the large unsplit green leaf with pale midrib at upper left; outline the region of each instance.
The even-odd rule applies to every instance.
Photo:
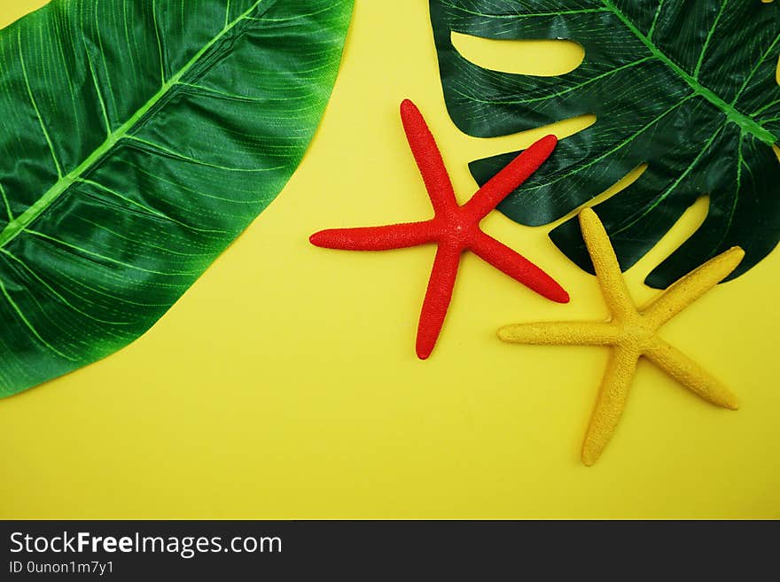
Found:
[[[0,31],[0,395],[148,330],[277,196],[352,0],[54,0]]]

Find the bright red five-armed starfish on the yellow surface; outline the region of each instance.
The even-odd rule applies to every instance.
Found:
[[[417,356],[421,360],[431,355],[439,338],[452,299],[460,255],[466,250],[544,297],[567,303],[568,293],[550,275],[480,229],[480,221],[550,157],[558,139],[555,136],[542,137],[482,186],[464,206],[458,206],[455,190],[431,130],[409,99],[401,104],[401,118],[433,203],[433,219],[389,226],[323,230],[312,235],[309,239],[311,243],[346,251],[386,251],[434,242],[439,245],[417,327]]]

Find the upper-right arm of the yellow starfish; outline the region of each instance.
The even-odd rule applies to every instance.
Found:
[[[644,314],[659,328],[729,276],[744,257],[738,246],[722,252],[674,283],[644,308]]]

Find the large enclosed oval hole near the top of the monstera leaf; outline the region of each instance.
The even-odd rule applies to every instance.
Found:
[[[585,50],[567,40],[495,40],[452,33],[452,44],[474,65],[500,73],[553,77],[582,64]]]

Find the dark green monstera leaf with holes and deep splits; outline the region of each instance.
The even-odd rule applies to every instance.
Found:
[[[472,136],[505,136],[595,113],[500,206],[511,219],[556,221],[646,163],[631,187],[597,206],[622,268],[656,244],[699,196],[701,227],[651,272],[666,287],[732,245],[763,259],[780,237],[780,2],[761,0],[431,0],[448,112]],[[558,77],[506,74],[461,56],[452,33],[569,39],[581,66]],[[484,183],[516,152],[472,163]],[[550,237],[592,269],[580,229]]]

